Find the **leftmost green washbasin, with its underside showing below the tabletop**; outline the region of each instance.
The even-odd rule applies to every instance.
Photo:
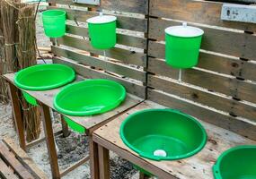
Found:
[[[75,80],[75,71],[64,64],[38,64],[15,74],[14,83],[22,90],[51,90]],[[24,98],[37,105],[36,99],[22,91]]]

